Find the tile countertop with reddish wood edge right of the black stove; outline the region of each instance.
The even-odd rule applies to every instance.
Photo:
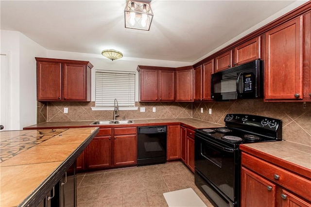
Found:
[[[311,179],[311,146],[279,141],[241,144],[240,149]]]

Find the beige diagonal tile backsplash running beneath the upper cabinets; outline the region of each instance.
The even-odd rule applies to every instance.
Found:
[[[92,111],[95,102],[38,102],[37,123],[60,121],[111,120],[113,111]],[[196,118],[225,125],[227,113],[245,113],[281,119],[283,139],[311,146],[311,104],[302,102],[263,102],[242,99],[230,102],[136,102],[145,112],[119,111],[121,119]],[[68,113],[64,113],[64,107]],[[156,111],[152,112],[153,107]],[[201,113],[203,108],[203,113]],[[208,109],[212,110],[208,114]]]

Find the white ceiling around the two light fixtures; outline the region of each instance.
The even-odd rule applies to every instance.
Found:
[[[124,28],[126,0],[1,0],[1,30],[52,50],[194,62],[294,0],[152,0],[150,31]]]

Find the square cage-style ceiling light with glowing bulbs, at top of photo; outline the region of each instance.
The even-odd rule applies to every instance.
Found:
[[[124,9],[125,28],[150,30],[154,17],[150,2],[151,0],[127,0]]]

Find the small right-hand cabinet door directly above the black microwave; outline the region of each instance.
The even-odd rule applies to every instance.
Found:
[[[261,58],[260,40],[260,36],[258,36],[234,48],[233,66]]]

